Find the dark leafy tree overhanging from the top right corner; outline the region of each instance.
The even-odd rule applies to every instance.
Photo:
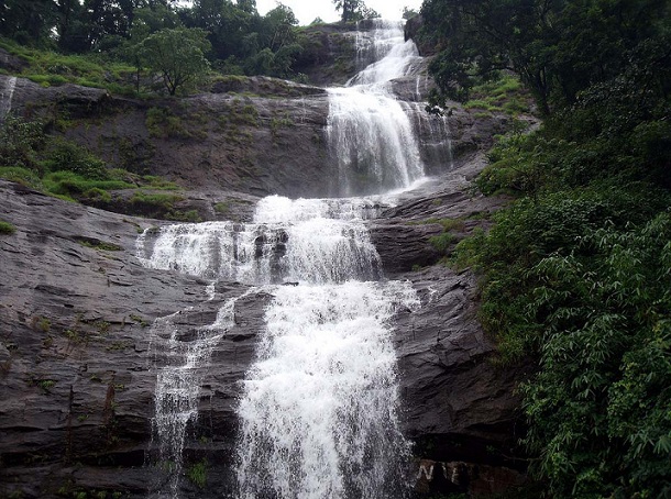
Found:
[[[668,32],[664,0],[429,0],[424,37],[442,46],[431,73],[442,98],[512,70],[548,114],[619,75],[641,43]],[[668,24],[668,22],[667,22]]]

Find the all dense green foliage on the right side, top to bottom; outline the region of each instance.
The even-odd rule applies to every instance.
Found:
[[[517,74],[543,126],[477,179],[516,197],[458,246],[558,498],[671,497],[671,11],[664,0],[427,0],[435,104]]]

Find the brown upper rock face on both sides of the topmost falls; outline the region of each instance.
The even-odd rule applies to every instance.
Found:
[[[0,88],[8,79],[0,75]],[[45,89],[23,78],[13,85],[11,112],[51,123],[110,166],[164,176],[200,192],[333,195],[323,181],[337,166],[326,134],[329,100],[322,88],[230,77],[208,93],[139,101],[75,85]],[[418,76],[395,81],[393,91],[409,101],[404,106],[429,174],[459,165],[505,129],[503,117],[475,120],[463,110],[449,119],[428,115],[424,104],[413,101],[427,87],[426,76]],[[452,157],[446,155],[446,133]]]

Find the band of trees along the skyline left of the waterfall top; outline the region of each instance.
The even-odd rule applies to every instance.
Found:
[[[362,0],[334,3],[343,21],[377,15]],[[26,54],[25,47],[70,55],[65,63],[50,56],[44,74],[33,75],[51,85],[67,80],[109,86],[110,78],[74,81],[73,73],[88,74],[79,68],[91,64],[123,64],[114,80],[133,79],[140,90],[141,82],[156,89],[158,78],[157,88],[170,95],[188,90],[208,68],[304,78],[299,59],[311,57],[315,41],[297,26],[287,5],[277,2],[265,15],[258,14],[254,0],[194,0],[184,5],[170,0],[0,0],[0,46],[28,58],[46,56]]]

